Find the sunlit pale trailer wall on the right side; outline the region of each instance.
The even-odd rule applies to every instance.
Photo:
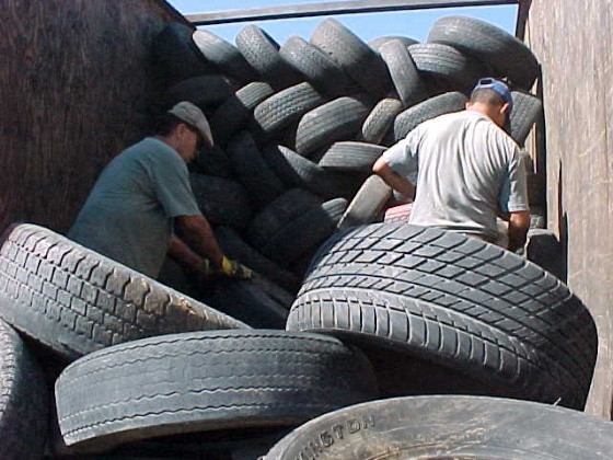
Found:
[[[599,327],[588,412],[610,417],[613,384],[613,1],[532,0],[528,43],[543,68],[548,227],[568,285]]]

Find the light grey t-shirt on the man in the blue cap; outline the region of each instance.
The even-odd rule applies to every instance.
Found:
[[[425,122],[383,158],[416,185],[410,223],[495,240],[498,209],[529,209],[519,147],[481,113],[463,111]]]

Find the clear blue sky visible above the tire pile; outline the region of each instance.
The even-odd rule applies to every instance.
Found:
[[[247,8],[278,7],[282,4],[313,3],[315,0],[167,0],[176,10],[183,14],[210,13],[213,11],[227,11]],[[514,35],[517,22],[517,5],[498,7],[464,7],[432,9],[391,13],[368,14],[344,14],[336,18],[349,27],[355,34],[368,42],[382,35],[404,35],[425,42],[428,31],[432,24],[442,16],[450,14],[464,14],[485,20]],[[263,21],[256,24],[270,34],[279,44],[282,44],[290,35],[300,35],[309,38],[317,24],[325,16]],[[239,31],[247,23],[222,24],[206,26],[208,31],[219,35],[228,42],[234,43]]]

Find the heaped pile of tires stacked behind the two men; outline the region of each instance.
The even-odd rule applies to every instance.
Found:
[[[478,78],[511,85],[507,129],[518,143],[542,113],[529,92],[539,73],[532,53],[465,16],[439,20],[426,43],[369,44],[327,19],[309,41],[282,46],[256,25],[234,46],[173,23],[152,50],[167,83],[158,108],[189,100],[211,122],[216,148],[194,162],[193,189],[222,248],[293,294],[337,228],[381,220],[394,203],[377,184],[351,203],[377,158],[419,123],[463,110]]]

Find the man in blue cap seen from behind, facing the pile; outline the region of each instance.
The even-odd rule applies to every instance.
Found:
[[[483,78],[465,111],[420,124],[374,163],[373,172],[392,188],[415,195],[410,223],[496,242],[496,217],[508,215],[508,249],[523,248],[530,226],[525,170],[502,129],[512,104],[507,84]]]

